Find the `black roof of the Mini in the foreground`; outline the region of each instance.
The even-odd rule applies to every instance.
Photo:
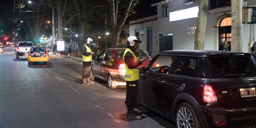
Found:
[[[251,53],[228,52],[215,50],[170,50],[159,52],[158,55],[181,55],[191,57],[210,57],[210,56],[251,56]]]

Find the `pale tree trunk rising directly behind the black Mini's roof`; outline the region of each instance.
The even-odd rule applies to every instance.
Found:
[[[208,16],[208,0],[200,0],[194,49],[204,49],[204,34]]]

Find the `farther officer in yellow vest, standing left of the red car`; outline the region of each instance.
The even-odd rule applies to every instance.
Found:
[[[83,85],[94,84],[90,81],[90,72],[91,72],[91,60],[94,52],[91,52],[90,45],[94,45],[93,39],[88,38],[85,41],[85,44],[81,47],[81,52],[83,55]]]

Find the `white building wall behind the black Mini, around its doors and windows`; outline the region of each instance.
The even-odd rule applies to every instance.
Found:
[[[256,0],[253,1],[253,4],[256,4]],[[197,18],[183,19],[174,22],[169,22],[169,17],[161,18],[161,6],[168,4],[169,12],[178,11],[182,9],[191,8],[198,6],[199,0],[196,0],[193,4],[186,5],[184,1],[173,0],[167,2],[157,3],[157,15],[146,17],[143,19],[133,20],[130,24],[142,22],[148,19],[153,19],[156,16],[158,17],[157,21],[146,22],[142,24],[136,24],[130,26],[130,36],[135,35],[135,29],[140,29],[144,27],[146,29],[145,35],[140,36],[140,40],[144,44],[140,45],[140,49],[147,50],[147,27],[153,27],[153,52],[152,55],[156,55],[159,52],[159,34],[164,33],[173,33],[173,49],[194,49],[195,34],[188,34],[188,28],[196,27]],[[214,10],[209,10],[209,15],[207,18],[207,27],[205,29],[205,43],[204,49],[206,50],[218,50],[219,44],[219,35],[218,35],[218,26],[221,19],[229,16],[231,17],[231,6],[225,8],[218,8]],[[141,30],[141,29],[140,29]],[[231,35],[232,36],[232,35]],[[252,25],[252,37],[256,37],[256,25]],[[243,24],[243,52],[248,52],[248,24]],[[156,44],[158,42],[158,44]],[[231,41],[232,42],[232,41]]]

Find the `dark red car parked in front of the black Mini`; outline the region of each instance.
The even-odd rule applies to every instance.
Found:
[[[124,52],[126,47],[109,47],[104,49],[93,61],[91,61],[90,79],[94,80],[95,77],[108,82],[111,89],[117,86],[126,86],[125,82],[125,65],[124,65]],[[137,60],[147,56],[145,62],[141,66],[147,66],[152,59],[145,52],[140,49],[134,52]],[[139,67],[141,67],[139,66]]]

